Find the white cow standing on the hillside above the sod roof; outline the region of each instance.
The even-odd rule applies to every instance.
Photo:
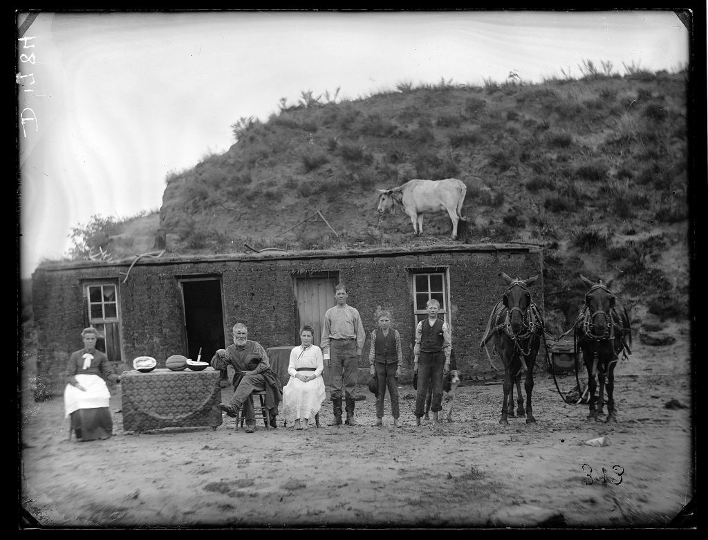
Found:
[[[457,178],[445,180],[409,180],[391,190],[377,190],[379,213],[390,212],[399,205],[413,222],[415,234],[423,233],[423,214],[437,214],[447,211],[452,220],[452,239],[457,238],[457,224],[462,217],[462,203],[467,193],[467,185]]]

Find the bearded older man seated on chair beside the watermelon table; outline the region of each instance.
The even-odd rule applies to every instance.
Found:
[[[270,426],[277,429],[275,417],[282,400],[282,384],[278,375],[270,369],[270,361],[265,349],[257,341],[248,339],[249,330],[243,323],[234,325],[234,344],[217,350],[212,358],[214,369],[233,367],[234,394],[229,403],[219,408],[232,418],[239,418],[239,409],[244,408],[246,433],[256,430],[256,413],[253,410],[251,394],[265,391],[265,406],[268,408]]]

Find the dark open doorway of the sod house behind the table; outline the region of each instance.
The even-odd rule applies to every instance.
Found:
[[[183,299],[183,321],[187,355],[210,362],[217,349],[224,348],[224,310],[221,281],[200,277],[179,281]],[[201,350],[201,355],[200,355]]]

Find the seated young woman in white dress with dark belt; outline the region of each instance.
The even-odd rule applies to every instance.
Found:
[[[287,424],[295,424],[296,430],[307,430],[311,418],[319,413],[326,398],[324,379],[324,360],[322,350],[312,345],[314,329],[312,326],[300,328],[300,341],[290,351],[290,364],[287,372],[290,380],[282,389],[282,412]]]

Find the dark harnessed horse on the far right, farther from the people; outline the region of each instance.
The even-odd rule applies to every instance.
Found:
[[[576,349],[580,348],[583,351],[583,361],[588,370],[588,403],[590,404],[588,420],[597,421],[598,416],[603,415],[605,377],[607,377],[606,421],[617,423],[613,394],[615,365],[619,353],[632,354],[627,345],[632,343],[629,315],[627,309],[602,280],[595,283],[582,274],[580,278],[590,287],[575,326]],[[598,381],[600,393],[599,396],[595,396]]]

